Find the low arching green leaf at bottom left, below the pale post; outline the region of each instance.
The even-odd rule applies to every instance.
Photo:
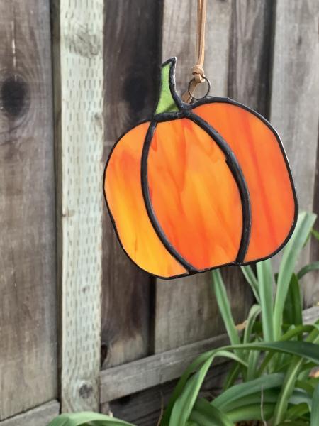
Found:
[[[105,414],[82,411],[81,413],[64,413],[55,417],[47,426],[134,426]]]

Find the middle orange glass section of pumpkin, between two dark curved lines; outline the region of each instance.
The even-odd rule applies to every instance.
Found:
[[[240,192],[225,155],[189,119],[157,124],[147,159],[150,199],[169,242],[199,270],[235,261]]]

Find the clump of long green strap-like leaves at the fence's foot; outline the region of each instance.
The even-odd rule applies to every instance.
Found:
[[[212,272],[212,289],[230,344],[201,354],[186,369],[160,426],[233,426],[249,421],[262,426],[319,426],[319,378],[312,374],[319,365],[319,320],[303,324],[299,283],[306,273],[319,269],[319,262],[296,271],[314,222],[315,214],[299,215],[278,274],[273,274],[270,260],[257,263],[256,271],[242,267],[256,300],[243,332],[235,327],[220,271]],[[232,362],[223,392],[213,400],[201,398],[206,374],[220,356]],[[97,413],[63,414],[49,426],[84,425],[133,426]]]

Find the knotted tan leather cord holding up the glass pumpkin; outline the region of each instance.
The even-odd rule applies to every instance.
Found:
[[[205,58],[205,24],[206,24],[206,6],[207,0],[197,0],[197,38],[196,38],[196,55],[197,62],[194,67],[191,68],[193,74],[193,80],[189,86],[189,91],[185,92],[181,99],[184,102],[191,102],[191,94],[194,94],[194,90],[197,84],[205,81],[203,62]]]

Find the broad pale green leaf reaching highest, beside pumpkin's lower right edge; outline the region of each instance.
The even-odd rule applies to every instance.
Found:
[[[299,214],[296,229],[291,239],[286,244],[283,257],[279,267],[277,281],[276,299],[274,303],[274,337],[279,339],[281,333],[281,322],[284,312],[286,296],[289,290],[289,284],[293,270],[296,267],[297,258],[303,249],[308,234],[315,222],[315,214],[302,212]]]

